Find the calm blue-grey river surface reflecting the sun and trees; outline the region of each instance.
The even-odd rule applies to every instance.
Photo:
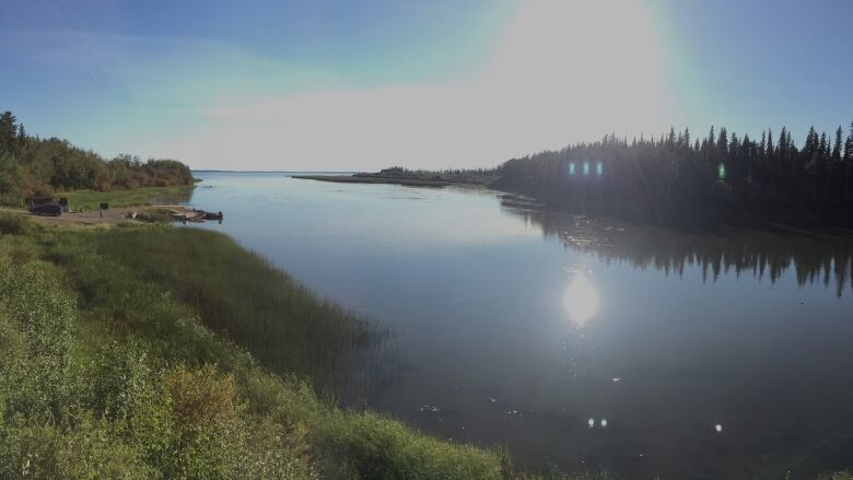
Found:
[[[853,467],[850,237],[673,230],[498,194],[199,173],[191,203],[396,332],[355,405],[626,478]]]

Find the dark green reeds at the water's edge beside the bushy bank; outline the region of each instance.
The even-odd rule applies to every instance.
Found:
[[[157,285],[269,368],[306,376],[320,388],[337,382],[336,374],[374,333],[366,320],[320,301],[215,232],[150,227],[60,233],[47,253],[72,274],[89,308],[126,307],[129,315],[140,302],[150,302],[130,283]]]

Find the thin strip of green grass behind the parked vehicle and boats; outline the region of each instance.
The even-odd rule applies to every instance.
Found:
[[[97,210],[102,202],[109,203],[112,208],[178,203],[191,196],[192,188],[192,186],[174,186],[114,191],[73,190],[59,191],[54,196],[67,197],[72,210]]]

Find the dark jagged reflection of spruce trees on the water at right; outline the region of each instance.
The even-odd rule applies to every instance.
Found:
[[[546,236],[559,237],[566,247],[597,254],[606,262],[628,261],[633,267],[653,267],[682,276],[685,267],[698,265],[703,280],[721,273],[751,273],[771,283],[790,268],[797,282],[822,282],[841,296],[853,289],[853,232],[816,233],[780,225],[762,229],[725,226],[674,230],[636,225],[617,220],[596,221],[551,211],[541,204],[504,196],[504,211],[541,227]]]

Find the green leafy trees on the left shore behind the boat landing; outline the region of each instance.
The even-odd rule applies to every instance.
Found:
[[[106,160],[58,138],[27,134],[11,112],[0,114],[0,198],[50,196],[54,191],[135,189],[191,185],[189,167],[175,160],[120,154]]]

